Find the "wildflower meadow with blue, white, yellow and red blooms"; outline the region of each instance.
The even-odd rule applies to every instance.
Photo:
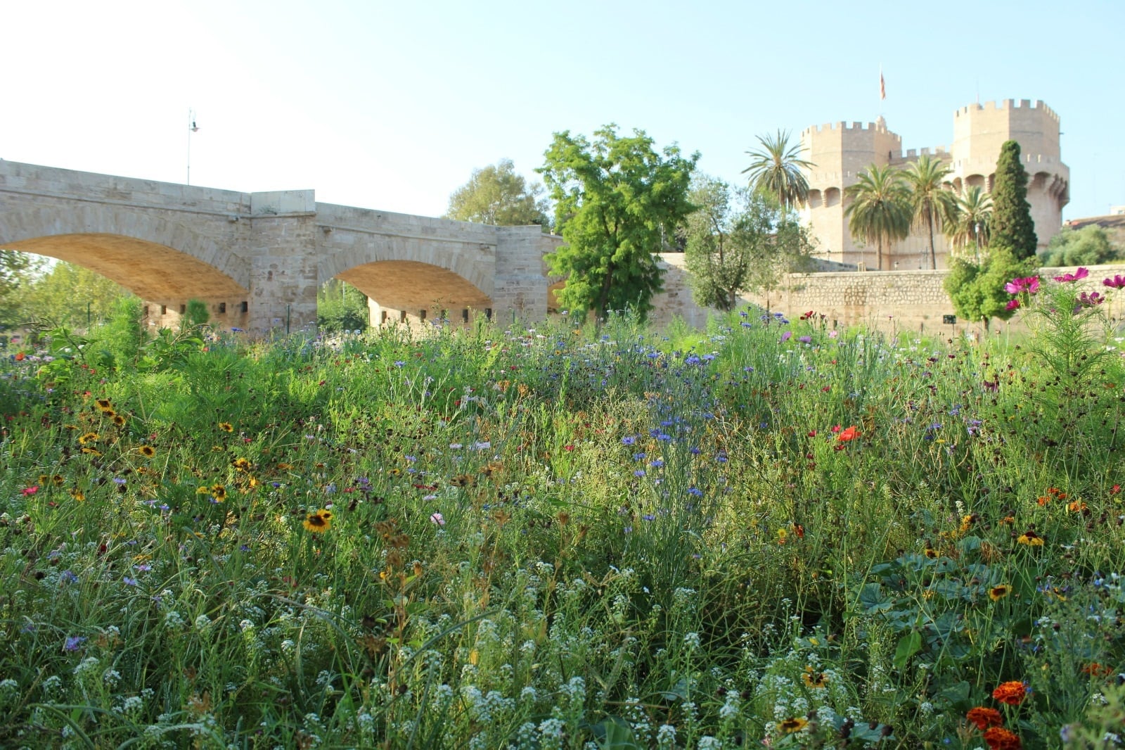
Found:
[[[979,342],[9,348],[0,745],[1122,747],[1125,279],[1079,274]]]

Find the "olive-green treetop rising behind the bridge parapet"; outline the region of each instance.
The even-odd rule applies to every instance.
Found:
[[[496,226],[526,226],[539,224],[550,227],[547,212],[550,206],[539,182],[530,187],[515,173],[510,159],[501,159],[484,169],[472,170],[466,185],[449,196],[446,218],[478,222]]]

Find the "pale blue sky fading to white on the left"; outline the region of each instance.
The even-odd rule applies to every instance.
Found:
[[[438,216],[500,159],[538,180],[561,131],[639,128],[738,184],[778,128],[883,115],[920,149],[1041,99],[1063,217],[1125,204],[1122,0],[43,0],[0,29],[10,161]]]

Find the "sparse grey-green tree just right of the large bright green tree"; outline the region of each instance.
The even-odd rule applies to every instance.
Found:
[[[680,235],[691,273],[692,294],[704,306],[729,312],[738,293],[750,280],[756,255],[772,235],[776,209],[763,195],[746,190],[734,195],[723,180],[696,176],[688,199],[696,209],[687,215]]]

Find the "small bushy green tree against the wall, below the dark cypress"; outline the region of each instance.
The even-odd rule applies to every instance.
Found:
[[[1004,285],[1034,273],[1034,261],[1017,260],[1007,249],[998,248],[989,251],[980,264],[955,258],[943,284],[957,315],[974,323],[983,322],[988,329],[992,318],[1008,320],[1015,312],[1007,310],[1011,295]]]

